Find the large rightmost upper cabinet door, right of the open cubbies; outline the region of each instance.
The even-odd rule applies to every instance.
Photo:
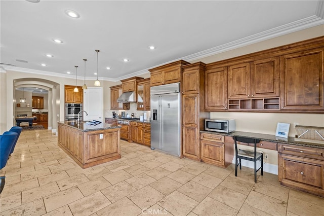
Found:
[[[323,48],[281,56],[281,110],[323,110]]]

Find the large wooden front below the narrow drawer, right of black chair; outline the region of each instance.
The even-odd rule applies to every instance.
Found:
[[[303,183],[322,189],[322,171],[324,162],[312,159],[304,159],[288,155],[279,155],[280,167],[279,181],[283,180]]]

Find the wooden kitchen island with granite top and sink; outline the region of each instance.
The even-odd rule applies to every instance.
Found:
[[[120,126],[58,122],[58,146],[82,168],[121,158],[119,140]]]

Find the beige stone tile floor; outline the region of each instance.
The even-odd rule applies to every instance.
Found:
[[[121,140],[119,160],[80,168],[48,130],[23,131],[7,166],[1,215],[324,215],[324,198],[253,170],[180,159]]]

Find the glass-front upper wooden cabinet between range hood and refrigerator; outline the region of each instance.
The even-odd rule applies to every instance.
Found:
[[[150,78],[138,80],[137,82],[137,110],[150,110]]]

